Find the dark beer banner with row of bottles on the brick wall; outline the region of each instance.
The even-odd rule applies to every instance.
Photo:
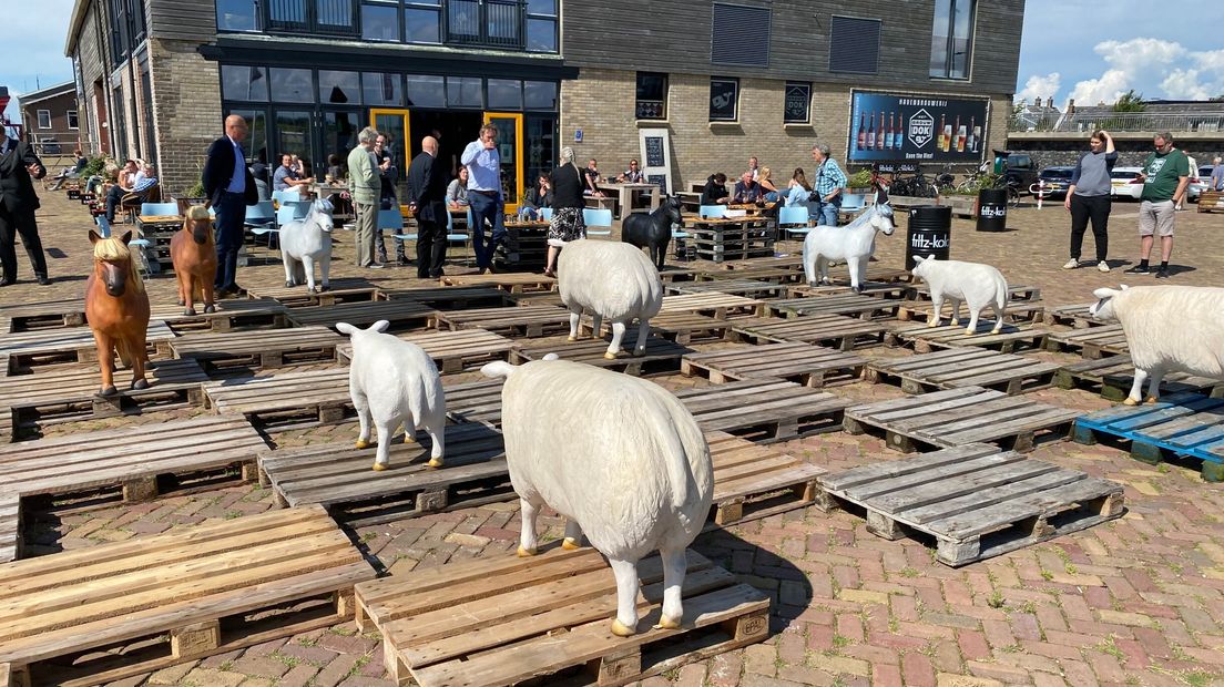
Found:
[[[854,90],[849,163],[980,163],[989,100]]]

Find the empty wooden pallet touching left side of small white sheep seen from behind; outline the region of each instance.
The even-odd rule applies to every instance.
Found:
[[[204,384],[204,406],[264,427],[334,424],[356,417],[349,368],[213,381]]]

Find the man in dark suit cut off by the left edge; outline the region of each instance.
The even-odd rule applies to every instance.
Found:
[[[4,268],[0,286],[17,281],[18,233],[34,265],[34,277],[44,286],[50,284],[43,242],[38,238],[38,224],[34,221],[34,210],[39,204],[32,180],[44,176],[47,167],[29,144],[16,138],[0,139],[0,265]]]

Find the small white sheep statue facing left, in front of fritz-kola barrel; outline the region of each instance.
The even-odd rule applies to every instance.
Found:
[[[944,298],[952,303],[952,324],[961,321],[961,301],[969,307],[969,326],[966,334],[978,330],[978,315],[991,306],[995,313],[995,326],[990,330],[999,334],[1002,330],[1004,308],[1007,307],[1007,280],[1002,273],[980,263],[962,263],[961,260],[936,260],[935,255],[918,258],[912,274],[930,287],[930,299],[934,310],[927,326],[939,326]]]

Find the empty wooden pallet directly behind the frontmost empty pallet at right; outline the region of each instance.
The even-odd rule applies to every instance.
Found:
[[[1038,433],[1066,436],[1077,416],[1023,396],[963,386],[847,408],[845,429],[883,435],[890,449],[907,454],[974,443],[1026,452]]]

